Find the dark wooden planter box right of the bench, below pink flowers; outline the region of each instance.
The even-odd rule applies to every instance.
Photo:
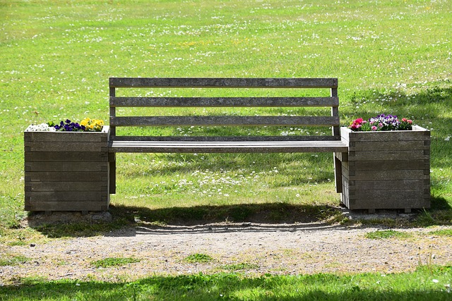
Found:
[[[430,207],[430,132],[352,132],[341,128],[348,154],[336,154],[342,168],[341,202],[349,209]]]

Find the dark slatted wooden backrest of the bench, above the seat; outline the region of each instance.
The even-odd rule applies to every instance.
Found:
[[[228,89],[328,89],[323,97],[117,97],[117,88],[228,88]],[[246,94],[251,94],[246,92]],[[337,78],[109,78],[109,113],[111,140],[340,140]],[[119,107],[326,107],[325,116],[117,116]],[[156,114],[160,115],[160,114]],[[327,115],[327,116],[326,116]],[[323,126],[331,127],[333,135],[273,135],[261,137],[130,137],[117,136],[117,127],[123,126]]]

